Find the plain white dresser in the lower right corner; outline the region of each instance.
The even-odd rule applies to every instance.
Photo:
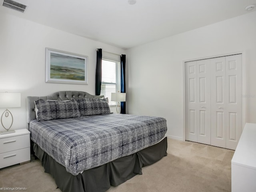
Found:
[[[246,123],[231,160],[232,192],[256,192],[256,124]]]

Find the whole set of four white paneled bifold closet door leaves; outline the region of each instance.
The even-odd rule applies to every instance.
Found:
[[[242,54],[185,62],[186,140],[235,150],[242,134]]]

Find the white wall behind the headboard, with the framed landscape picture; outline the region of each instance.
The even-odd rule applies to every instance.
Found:
[[[88,85],[46,83],[46,47],[88,56]],[[60,90],[95,94],[96,48],[125,54],[121,48],[0,12],[0,92],[22,94],[22,107],[9,109],[14,116],[12,128],[26,128],[26,96],[45,96]],[[4,109],[0,109],[0,115],[2,112]]]

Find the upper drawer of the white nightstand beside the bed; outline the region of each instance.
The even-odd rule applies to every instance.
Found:
[[[30,134],[0,139],[0,154],[30,147]]]

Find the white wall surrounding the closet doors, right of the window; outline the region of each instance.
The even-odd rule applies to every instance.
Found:
[[[256,12],[128,50],[128,113],[162,116],[183,139],[183,61],[234,52],[244,53],[245,122],[256,123]]]

